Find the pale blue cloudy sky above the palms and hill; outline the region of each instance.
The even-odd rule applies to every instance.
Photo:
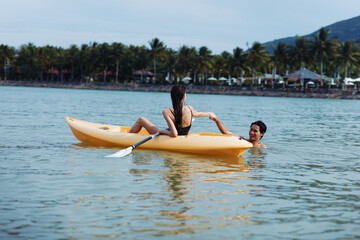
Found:
[[[215,54],[312,33],[360,15],[360,0],[0,0],[0,44],[206,46]]]

